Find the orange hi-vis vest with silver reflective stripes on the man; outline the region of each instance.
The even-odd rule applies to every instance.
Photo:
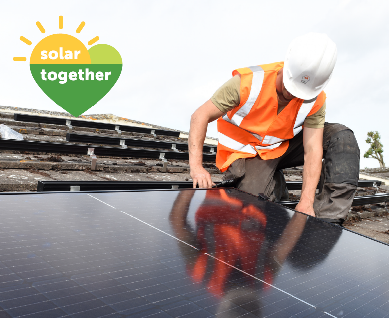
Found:
[[[278,62],[232,72],[241,76],[240,104],[217,120],[216,166],[221,171],[239,158],[282,156],[288,140],[303,129],[305,118],[323,106],[324,91],[312,100],[292,99],[277,115],[276,77],[283,66],[284,62]]]

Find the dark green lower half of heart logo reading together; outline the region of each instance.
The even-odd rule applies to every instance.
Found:
[[[115,85],[122,65],[30,64],[30,70],[36,83],[48,97],[78,117],[101,100]]]

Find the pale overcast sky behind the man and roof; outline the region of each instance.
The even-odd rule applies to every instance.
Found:
[[[354,131],[361,157],[368,149],[366,133],[379,131],[389,165],[388,20],[388,0],[3,1],[0,105],[63,111],[34,82],[28,64],[32,49],[55,33],[73,35],[87,48],[99,36],[96,44],[120,52],[123,70],[86,114],[113,113],[188,131],[191,114],[234,69],[283,61],[293,38],[322,32],[338,47],[325,89],[326,121]],[[81,21],[86,26],[77,34]],[[14,56],[26,56],[27,62],[14,62]],[[217,137],[215,123],[207,135]],[[377,166],[377,160],[361,159],[361,168]]]

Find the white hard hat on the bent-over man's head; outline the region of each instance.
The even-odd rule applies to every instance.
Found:
[[[284,62],[283,81],[289,93],[311,100],[328,84],[338,52],[327,34],[308,33],[289,45]]]

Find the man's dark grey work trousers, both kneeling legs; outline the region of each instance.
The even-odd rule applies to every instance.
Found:
[[[235,160],[224,180],[235,179],[236,188],[272,201],[288,200],[282,169],[304,164],[303,131],[289,140],[285,154],[263,160],[259,156]],[[316,217],[342,223],[350,210],[359,179],[360,151],[354,133],[341,124],[325,123],[323,134],[323,165],[319,194],[313,208]]]

